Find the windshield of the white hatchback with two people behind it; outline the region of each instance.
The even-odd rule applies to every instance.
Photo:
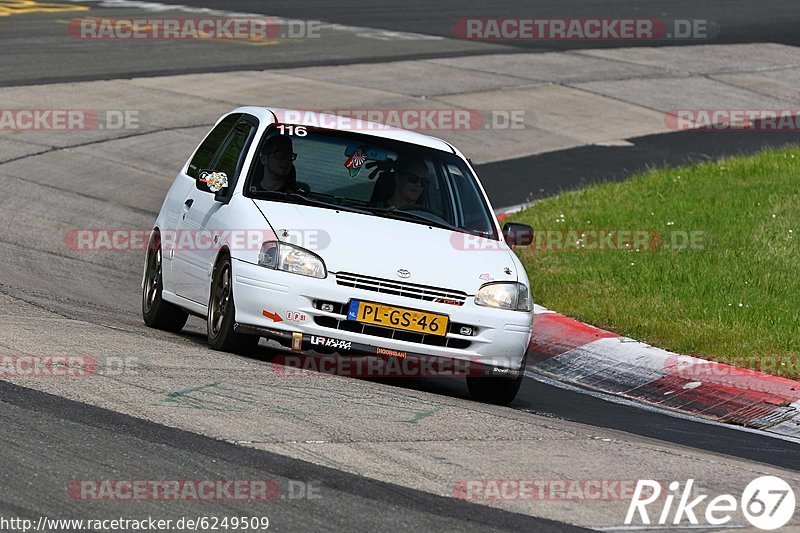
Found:
[[[270,128],[245,195],[351,210],[497,239],[475,177],[453,153],[355,132]]]

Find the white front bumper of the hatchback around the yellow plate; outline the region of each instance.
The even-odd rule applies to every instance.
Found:
[[[457,359],[496,368],[498,372],[503,369],[516,372],[521,370],[531,339],[532,312],[480,307],[472,298],[456,306],[345,287],[336,282],[333,273],[325,279],[316,279],[234,260],[233,293],[239,332],[278,340],[297,352],[353,355],[392,355],[390,352],[398,352]],[[445,314],[452,323],[473,326],[474,332],[469,336],[449,332],[446,336],[448,344],[466,346],[454,348],[347,331],[318,323],[335,324],[347,317],[344,312],[322,311],[315,307],[315,303],[344,305],[350,299]]]

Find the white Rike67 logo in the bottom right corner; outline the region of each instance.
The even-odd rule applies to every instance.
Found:
[[[740,498],[722,494],[710,498],[694,487],[689,479],[673,481],[667,486],[649,479],[640,479],[625,516],[625,525],[658,524],[660,526],[724,526],[740,510],[750,525],[763,530],[785,526],[794,516],[795,496],[792,487],[775,476],[761,476],[751,481]],[[662,505],[663,504],[663,505]],[[652,514],[651,514],[652,513]],[[730,524],[733,527],[734,524]]]

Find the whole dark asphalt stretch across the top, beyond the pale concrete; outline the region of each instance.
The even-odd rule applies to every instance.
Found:
[[[3,50],[0,54],[0,72],[3,73],[0,86],[605,47],[747,42],[800,44],[800,32],[797,31],[800,27],[800,3],[795,0],[458,0],[444,4],[423,0],[369,3],[164,0],[147,3],[175,8],[142,10],[137,9],[137,3],[131,0],[77,0],[62,5],[89,9],[0,16],[0,49]],[[68,22],[76,18],[191,18],[205,16],[197,11],[203,8],[321,21],[323,24],[292,30],[293,33],[290,33],[288,25],[283,25],[283,38],[279,36],[270,42],[249,43],[85,40],[70,36],[67,29]],[[702,20],[713,25],[715,31],[713,34],[707,32],[702,39],[680,40],[479,42],[454,38],[453,25],[460,19],[531,17]],[[301,37],[289,38],[290,34]]]

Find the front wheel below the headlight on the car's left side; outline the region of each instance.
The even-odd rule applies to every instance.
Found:
[[[206,320],[208,345],[222,352],[243,353],[258,344],[256,335],[242,335],[233,330],[236,304],[233,299],[233,267],[231,259],[223,256],[214,267],[211,291],[208,298]]]

